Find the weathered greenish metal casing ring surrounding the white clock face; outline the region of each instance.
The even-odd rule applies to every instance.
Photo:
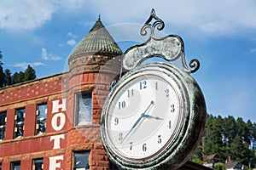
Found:
[[[149,157],[148,160],[132,161],[132,158],[125,159],[119,156],[108,144],[105,116],[108,114],[108,106],[111,103],[112,95],[115,91],[122,86],[125,79],[132,77],[134,74],[143,74],[144,71],[157,70],[164,72],[167,76],[170,76],[176,80],[178,86],[181,87],[183,95],[183,124],[181,125],[175,142],[166,146],[165,150],[160,152],[160,155]],[[196,100],[196,101],[195,101]],[[198,103],[197,100],[201,102]],[[196,104],[195,104],[196,103]],[[180,105],[182,107],[182,105]],[[112,88],[105,105],[102,110],[102,143],[107,151],[107,154],[111,161],[117,164],[122,169],[139,169],[139,168],[159,168],[159,167],[180,167],[185,161],[189,159],[189,156],[193,150],[195,150],[204,127],[206,118],[205,102],[201,93],[201,90],[195,80],[190,77],[187,72],[182,71],[174,65],[168,65],[166,63],[150,63],[146,65],[140,65],[137,69],[129,71],[122,77],[119,82]],[[196,110],[196,111],[195,111]],[[199,119],[198,119],[199,118]],[[197,130],[195,130],[197,126]],[[194,133],[191,135],[191,132]],[[195,139],[196,138],[196,139]],[[183,154],[178,152],[183,151]]]

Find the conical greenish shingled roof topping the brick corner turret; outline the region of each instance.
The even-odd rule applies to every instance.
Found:
[[[114,42],[108,30],[102,25],[101,18],[96,20],[96,24],[91,28],[89,33],[79,43],[78,47],[73,50],[71,57],[76,54],[113,54],[120,55],[122,50]]]

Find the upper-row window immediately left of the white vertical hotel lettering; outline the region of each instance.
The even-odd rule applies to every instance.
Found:
[[[37,121],[36,134],[45,133],[46,127],[47,104],[38,105],[37,107]]]

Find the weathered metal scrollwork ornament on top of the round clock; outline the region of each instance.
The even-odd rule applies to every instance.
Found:
[[[155,21],[151,24],[153,19]],[[161,38],[155,37],[154,29],[157,28],[161,31],[164,27],[165,23],[155,14],[153,8],[148,20],[141,29],[141,35],[146,36],[146,30],[149,28],[150,37],[147,42],[126,50],[123,56],[123,66],[126,70],[129,71],[143,63],[144,60],[154,56],[159,56],[167,61],[174,61],[181,58],[184,71],[188,73],[193,73],[199,69],[200,63],[197,59],[192,59],[189,62],[189,66],[187,65],[184,54],[184,43],[181,37],[177,35],[169,35]]]

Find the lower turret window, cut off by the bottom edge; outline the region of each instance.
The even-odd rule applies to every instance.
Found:
[[[74,170],[87,170],[90,169],[90,151],[74,152],[73,153],[73,169]]]

